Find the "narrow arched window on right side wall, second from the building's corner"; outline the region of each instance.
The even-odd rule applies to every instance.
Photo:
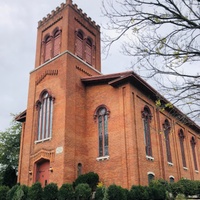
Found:
[[[165,145],[166,145],[166,152],[167,152],[167,161],[172,163],[172,157],[171,157],[171,149],[170,149],[170,140],[169,140],[169,134],[170,134],[170,123],[166,119],[163,124],[164,129],[164,135],[165,135]]]

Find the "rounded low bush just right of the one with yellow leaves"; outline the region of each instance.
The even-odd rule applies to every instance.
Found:
[[[108,187],[109,200],[127,200],[126,190],[118,185],[110,185]]]

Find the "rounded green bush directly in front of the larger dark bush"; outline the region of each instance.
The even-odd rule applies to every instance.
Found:
[[[80,200],[87,200],[91,196],[91,188],[87,183],[80,183],[75,188],[75,196]]]

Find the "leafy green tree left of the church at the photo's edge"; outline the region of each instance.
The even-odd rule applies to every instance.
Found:
[[[21,123],[14,120],[0,132],[0,184],[12,187],[17,182]]]

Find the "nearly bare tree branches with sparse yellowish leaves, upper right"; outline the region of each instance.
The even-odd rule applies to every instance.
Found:
[[[200,1],[105,0],[103,14],[111,31],[103,39],[107,50],[121,41],[133,70],[154,78],[157,89],[198,122]]]

